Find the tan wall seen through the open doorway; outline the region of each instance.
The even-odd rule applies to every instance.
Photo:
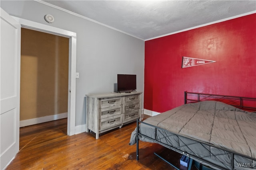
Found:
[[[68,111],[69,39],[21,30],[20,120]]]

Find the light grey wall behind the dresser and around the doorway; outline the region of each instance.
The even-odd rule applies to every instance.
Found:
[[[1,0],[0,6],[12,16],[76,33],[76,126],[86,123],[85,94],[114,92],[117,74],[136,74],[137,91],[144,92],[144,41],[32,0]],[[46,14],[54,23],[44,21]]]

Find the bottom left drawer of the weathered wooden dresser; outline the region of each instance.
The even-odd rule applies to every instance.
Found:
[[[122,124],[121,121],[121,115],[115,115],[112,117],[108,117],[105,119],[100,119],[100,127],[99,130],[104,130],[104,129],[108,129],[112,126],[116,126],[116,125],[120,125]]]

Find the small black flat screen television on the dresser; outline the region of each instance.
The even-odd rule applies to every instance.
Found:
[[[136,90],[136,75],[117,74],[117,91]]]

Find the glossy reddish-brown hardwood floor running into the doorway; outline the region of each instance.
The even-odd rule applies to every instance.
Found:
[[[140,160],[136,145],[128,145],[136,122],[124,125],[98,140],[91,133],[68,136],[67,119],[20,128],[20,151],[6,170],[163,170],[174,169],[155,156],[156,152],[180,167],[180,154],[161,145],[140,141]],[[196,169],[192,167],[192,169]]]

